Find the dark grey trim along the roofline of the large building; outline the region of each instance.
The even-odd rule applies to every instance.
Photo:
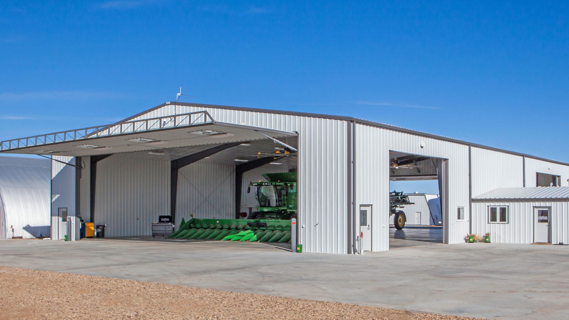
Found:
[[[501,152],[501,153],[507,153],[507,154],[512,154],[512,155],[518,155],[518,156],[520,156],[520,157],[526,157],[526,158],[531,158],[531,159],[535,159],[535,160],[540,160],[540,161],[546,161],[546,162],[556,163],[556,164],[558,164],[558,165],[569,166],[569,163],[567,163],[567,162],[556,161],[556,160],[547,159],[547,158],[541,158],[541,157],[537,157],[537,156],[531,155],[531,154],[518,153],[518,152],[515,152],[515,151],[500,149],[500,148],[497,148],[497,147],[490,147],[490,146],[480,145],[480,144],[478,144],[478,143],[471,143],[471,142],[468,142],[468,141],[463,141],[463,140],[458,140],[458,139],[453,139],[453,138],[438,136],[438,135],[436,135],[436,134],[420,132],[420,131],[417,131],[417,130],[401,128],[401,127],[393,126],[393,125],[381,124],[380,122],[374,122],[374,121],[363,120],[363,119],[354,118],[354,117],[347,117],[347,116],[333,116],[333,115],[331,115],[331,114],[307,113],[307,112],[286,111],[286,110],[274,110],[274,109],[245,108],[245,107],[242,107],[242,106],[230,106],[230,105],[192,104],[192,103],[188,103],[188,102],[172,102],[172,101],[168,101],[168,102],[164,102],[163,104],[157,105],[157,106],[155,106],[154,108],[150,108],[150,109],[148,109],[148,110],[146,110],[146,111],[137,113],[137,114],[135,114],[134,116],[131,116],[131,117],[128,117],[128,118],[126,118],[126,119],[124,119],[124,120],[118,121],[118,122],[116,122],[116,123],[118,124],[118,123],[120,123],[120,122],[128,121],[128,120],[130,120],[130,119],[133,119],[133,118],[135,118],[135,117],[142,116],[143,114],[152,112],[152,111],[154,111],[154,110],[156,110],[156,109],[162,108],[163,106],[167,106],[167,105],[200,106],[200,107],[202,107],[202,108],[229,109],[229,110],[241,110],[241,111],[251,111],[251,112],[266,112],[266,113],[275,113],[275,114],[286,114],[286,115],[289,115],[289,116],[304,116],[304,117],[315,117],[315,118],[327,118],[327,119],[333,119],[333,120],[354,121],[354,122],[356,122],[357,124],[370,125],[370,126],[375,126],[375,127],[377,127],[377,128],[384,128],[384,129],[389,129],[389,130],[393,130],[393,131],[397,131],[397,132],[410,133],[410,134],[415,134],[415,135],[417,135],[417,136],[422,136],[422,137],[426,137],[426,138],[434,138],[434,139],[438,139],[438,140],[443,140],[443,141],[448,141],[448,142],[459,143],[459,144],[461,144],[461,145],[478,147],[478,148],[480,148],[480,149],[498,151],[498,152]]]

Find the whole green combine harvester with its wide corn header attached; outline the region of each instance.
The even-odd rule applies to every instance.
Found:
[[[250,182],[257,187],[257,210],[249,219],[196,219],[180,223],[171,239],[290,243],[291,220],[296,218],[296,173],[263,174],[269,182]]]

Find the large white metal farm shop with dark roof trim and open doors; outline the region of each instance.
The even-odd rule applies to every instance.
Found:
[[[249,204],[248,180],[278,166],[256,156],[280,146],[273,140],[298,149],[282,166],[298,173],[298,243],[307,252],[353,253],[360,233],[364,250],[389,249],[390,180],[438,180],[443,242],[459,243],[473,228],[472,195],[569,178],[567,163],[357,118],[179,102],[112,125],[3,141],[0,152],[63,162],[52,162],[53,235],[65,208],[76,229],[81,215],[105,223],[106,236],[131,236],[149,235],[162,214],[176,223],[236,218]]]

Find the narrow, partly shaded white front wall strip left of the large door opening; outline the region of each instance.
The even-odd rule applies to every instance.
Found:
[[[53,155],[52,158],[75,165],[73,157]],[[75,216],[75,168],[51,161],[51,239],[60,239],[57,208],[67,208],[67,215]]]

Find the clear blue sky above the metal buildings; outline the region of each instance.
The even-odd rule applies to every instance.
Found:
[[[340,114],[569,162],[568,2],[4,1],[0,140],[175,100]]]

